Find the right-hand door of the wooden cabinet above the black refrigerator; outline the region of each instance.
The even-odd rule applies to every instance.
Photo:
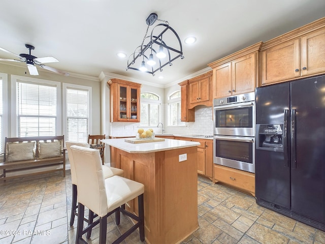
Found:
[[[325,28],[301,38],[301,74],[325,72]]]

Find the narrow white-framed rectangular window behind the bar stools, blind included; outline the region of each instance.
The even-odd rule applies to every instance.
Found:
[[[87,142],[91,118],[91,87],[63,84],[64,133],[69,141]]]

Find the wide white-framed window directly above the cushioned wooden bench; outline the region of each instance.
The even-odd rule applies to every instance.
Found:
[[[61,134],[60,83],[12,76],[12,124],[18,137]],[[14,101],[15,100],[15,101]]]

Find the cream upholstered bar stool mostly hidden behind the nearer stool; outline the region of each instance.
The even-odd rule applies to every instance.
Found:
[[[66,146],[68,150],[68,157],[69,157],[69,162],[71,166],[71,181],[72,181],[72,207],[71,207],[71,217],[70,217],[70,226],[73,226],[73,223],[75,221],[75,216],[78,216],[77,214],[77,178],[76,178],[76,170],[75,170],[75,161],[73,158],[73,155],[71,153],[70,147],[72,145],[78,145],[82,147],[89,147],[89,144],[86,142],[75,142],[75,141],[66,141]],[[103,174],[104,178],[109,178],[114,175],[119,175],[123,176],[123,170],[122,169],[117,169],[114,167],[109,167],[106,165],[102,165],[103,169]],[[89,222],[91,223],[93,219],[93,213],[90,211],[89,212]],[[90,235],[90,232],[89,232]]]

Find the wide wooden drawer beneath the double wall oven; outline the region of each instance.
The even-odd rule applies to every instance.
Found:
[[[255,196],[255,174],[221,165],[214,165],[214,178],[226,185]]]

